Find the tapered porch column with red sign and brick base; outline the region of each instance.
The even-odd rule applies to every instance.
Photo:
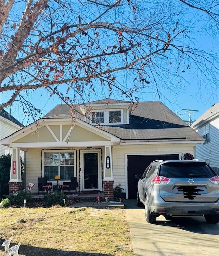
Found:
[[[21,180],[21,160],[20,160],[20,148],[12,148],[11,154],[11,169],[9,179],[9,195],[13,192],[20,192],[22,186]]]

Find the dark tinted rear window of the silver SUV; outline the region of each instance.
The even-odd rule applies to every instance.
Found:
[[[172,162],[162,164],[159,175],[167,178],[211,178],[215,173],[204,162]]]

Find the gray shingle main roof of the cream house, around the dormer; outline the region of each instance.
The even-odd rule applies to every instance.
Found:
[[[105,104],[109,99],[91,102],[90,104]],[[110,100],[110,103],[130,103],[128,101]],[[79,108],[74,115],[78,116]],[[101,126],[105,130],[121,140],[138,140],[138,141],[200,141],[203,140],[190,126],[188,126],[181,118],[167,108],[159,101],[134,103],[133,111],[129,115],[129,124],[126,125],[104,125]],[[71,116],[70,107],[67,105],[57,105],[44,118],[60,118]]]

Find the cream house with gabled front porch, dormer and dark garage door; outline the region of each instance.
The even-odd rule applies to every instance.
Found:
[[[20,149],[26,151],[26,187],[37,184],[38,177],[55,185],[56,175],[59,184],[75,176],[78,191],[104,191],[112,199],[116,186],[124,188],[127,198],[135,198],[134,174],[143,173],[153,160],[194,154],[196,143],[203,141],[159,101],[130,104],[105,99],[72,108],[57,105],[1,143],[13,148],[13,159]],[[10,182],[19,183],[12,169]]]

